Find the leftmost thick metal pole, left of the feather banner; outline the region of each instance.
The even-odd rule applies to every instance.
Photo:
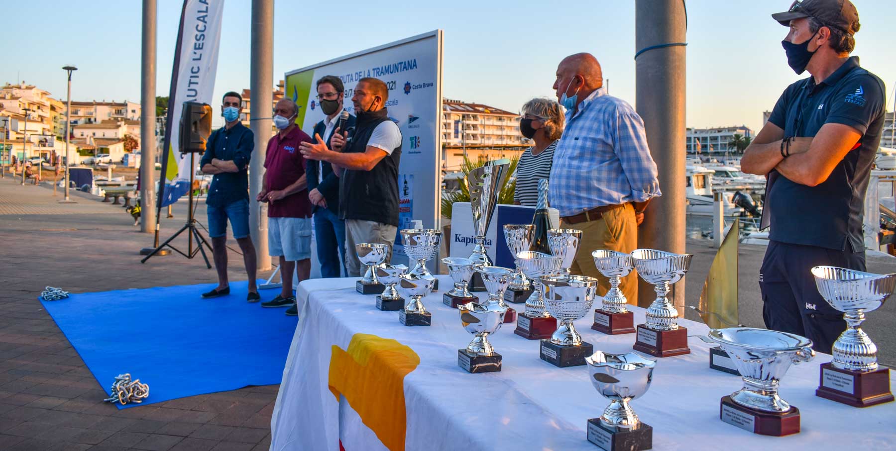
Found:
[[[156,230],[156,0],[143,0],[140,81],[140,231]]]

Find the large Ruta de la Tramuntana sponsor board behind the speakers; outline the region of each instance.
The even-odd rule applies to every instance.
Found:
[[[285,95],[298,104],[296,122],[305,132],[323,121],[316,82],[334,75],[345,85],[344,106],[354,114],[352,92],[358,80],[374,77],[389,87],[389,118],[401,129],[399,230],[411,220],[439,226],[441,191],[442,30],[385,44],[286,73]],[[401,234],[395,238],[401,254]],[[394,262],[394,261],[393,261]],[[316,265],[315,265],[316,266]]]

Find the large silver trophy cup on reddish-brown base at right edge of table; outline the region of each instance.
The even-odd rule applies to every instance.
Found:
[[[879,309],[896,290],[896,274],[872,274],[847,268],[812,268],[824,301],[843,312],[847,328],[832,346],[833,361],[822,364],[815,395],[854,407],[893,400],[890,369],[877,364],[877,346],[862,330],[866,311]]]

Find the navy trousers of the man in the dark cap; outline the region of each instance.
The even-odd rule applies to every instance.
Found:
[[[765,327],[806,336],[813,349],[831,353],[846,329],[843,313],[824,301],[812,268],[820,265],[865,270],[865,251],[834,251],[817,246],[769,242],[759,270]]]

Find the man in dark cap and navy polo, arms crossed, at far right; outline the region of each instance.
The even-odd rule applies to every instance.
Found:
[[[741,169],[767,175],[763,225],[771,225],[759,273],[768,328],[807,336],[831,353],[846,328],[809,272],[818,265],[865,270],[863,206],[883,129],[883,81],[849,56],[859,29],[849,0],[804,0],[771,16],[794,72]]]

